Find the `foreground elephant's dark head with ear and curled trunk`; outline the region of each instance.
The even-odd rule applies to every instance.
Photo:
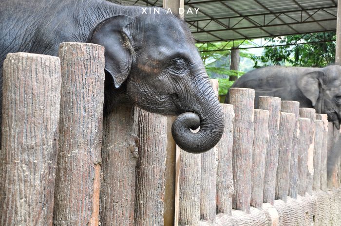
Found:
[[[150,112],[181,114],[172,125],[180,148],[202,153],[217,144],[222,108],[181,19],[165,13],[114,16],[97,24],[88,41],[105,47],[107,111],[120,96]]]

